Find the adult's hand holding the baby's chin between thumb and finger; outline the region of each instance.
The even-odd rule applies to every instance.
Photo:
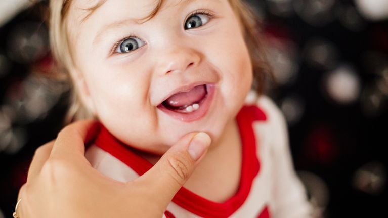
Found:
[[[19,192],[19,217],[161,217],[210,144],[204,133],[188,134],[143,176],[122,183],[84,157],[97,130],[94,121],[78,121],[37,149]]]

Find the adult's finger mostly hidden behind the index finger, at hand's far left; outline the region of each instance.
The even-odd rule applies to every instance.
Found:
[[[43,164],[49,158],[53,145],[54,140],[36,149],[30,168],[28,169],[27,182],[33,181],[36,178]]]

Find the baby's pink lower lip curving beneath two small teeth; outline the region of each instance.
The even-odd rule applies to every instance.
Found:
[[[204,99],[199,103],[199,108],[191,113],[179,113],[173,110],[168,110],[163,105],[158,106],[158,108],[166,113],[167,115],[178,119],[183,122],[194,122],[196,120],[204,117],[211,106],[211,102],[214,97],[215,85],[207,84],[206,85],[207,94]]]

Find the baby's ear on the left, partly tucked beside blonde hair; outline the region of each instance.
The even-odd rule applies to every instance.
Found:
[[[74,91],[76,95],[80,98],[82,105],[87,109],[91,114],[96,116],[96,107],[94,105],[93,98],[89,92],[89,87],[87,82],[84,79],[83,74],[78,70],[72,70],[71,76],[74,83]]]

